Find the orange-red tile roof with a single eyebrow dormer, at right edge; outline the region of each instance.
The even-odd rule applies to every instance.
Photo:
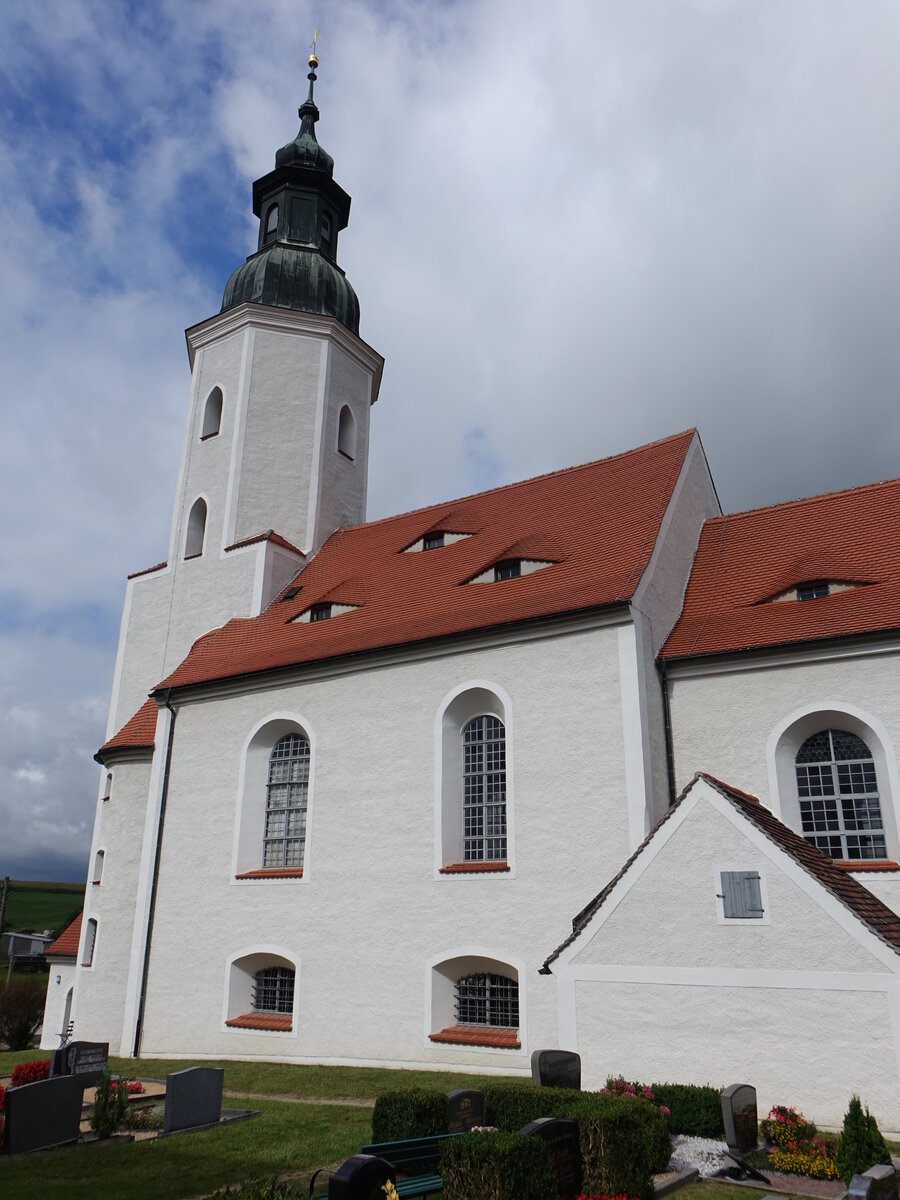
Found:
[[[821,600],[772,598],[816,580]],[[900,628],[900,480],[707,521],[664,659]]]

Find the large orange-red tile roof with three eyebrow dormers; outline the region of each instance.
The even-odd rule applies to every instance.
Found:
[[[314,662],[625,602],[653,551],[692,431],[628,454],[338,529],[304,568],[294,600],[197,641],[158,688]],[[434,529],[473,536],[404,553]],[[502,583],[466,581],[510,557],[553,565]],[[286,588],[287,590],[287,588]],[[294,623],[324,600],[356,605]]]

